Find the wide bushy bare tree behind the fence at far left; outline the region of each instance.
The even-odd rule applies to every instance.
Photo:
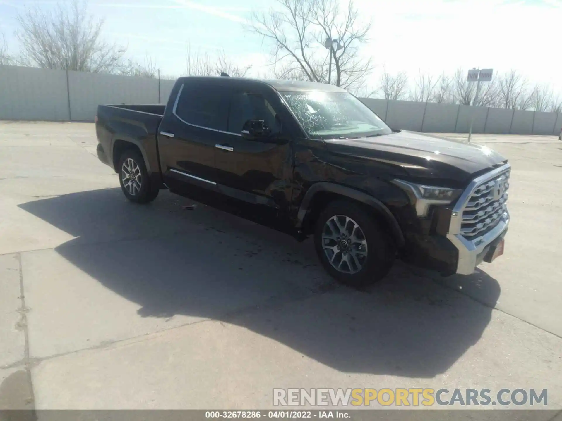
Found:
[[[55,11],[39,6],[26,8],[17,16],[25,62],[42,68],[86,72],[116,72],[122,66],[126,48],[102,40],[103,20],[87,12],[87,2],[73,0]]]

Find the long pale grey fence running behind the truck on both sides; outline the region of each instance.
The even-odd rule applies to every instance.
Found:
[[[166,104],[175,81],[0,66],[0,120],[93,121],[99,104]],[[160,92],[158,92],[160,88]],[[393,129],[556,135],[562,114],[359,98]],[[554,130],[554,131],[553,131]]]

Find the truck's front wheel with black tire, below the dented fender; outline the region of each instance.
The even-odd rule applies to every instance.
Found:
[[[353,239],[347,234],[347,241],[342,237],[337,237],[337,239],[344,240],[343,243],[340,240],[323,239],[323,234],[331,236],[336,233],[336,231],[330,230],[326,226],[328,221],[333,226],[333,223],[336,222],[333,219],[334,217],[337,218],[338,223],[342,226],[345,226],[347,223],[346,228],[350,228],[349,232],[351,232],[355,225],[359,226],[360,231],[354,231],[356,234]],[[361,241],[354,241],[357,238]],[[340,249],[337,249],[336,253],[332,250],[325,251],[324,242],[326,246],[330,247],[333,247],[334,244],[339,245]],[[361,242],[362,244],[360,244]],[[314,244],[320,262],[326,271],[336,278],[337,281],[358,289],[382,280],[390,271],[396,257],[396,247],[393,241],[379,227],[375,217],[364,209],[362,205],[346,200],[331,202],[320,213],[316,220]],[[346,258],[343,256],[342,249],[344,248],[349,250],[346,252]],[[367,252],[366,257],[361,255],[364,253],[364,250]],[[328,254],[333,257],[333,262],[339,266],[339,269],[330,263]],[[346,271],[345,269],[348,270]]]

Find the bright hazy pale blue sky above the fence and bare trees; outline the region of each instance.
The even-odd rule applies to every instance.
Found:
[[[64,2],[64,1],[63,1]],[[11,52],[15,16],[25,5],[52,7],[49,0],[0,0],[0,32]],[[377,68],[421,70],[431,74],[463,68],[514,68],[533,83],[562,91],[562,0],[355,0],[370,17],[370,42],[363,48]],[[235,6],[234,6],[235,4]],[[90,0],[90,12],[106,20],[103,35],[129,46],[128,55],[151,56],[162,74],[185,72],[187,45],[192,50],[252,64],[263,74],[270,47],[243,29],[252,10],[269,9],[275,0]]]

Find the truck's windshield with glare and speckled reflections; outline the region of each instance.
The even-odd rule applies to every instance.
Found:
[[[290,92],[281,95],[312,139],[387,135],[392,130],[348,92]]]

